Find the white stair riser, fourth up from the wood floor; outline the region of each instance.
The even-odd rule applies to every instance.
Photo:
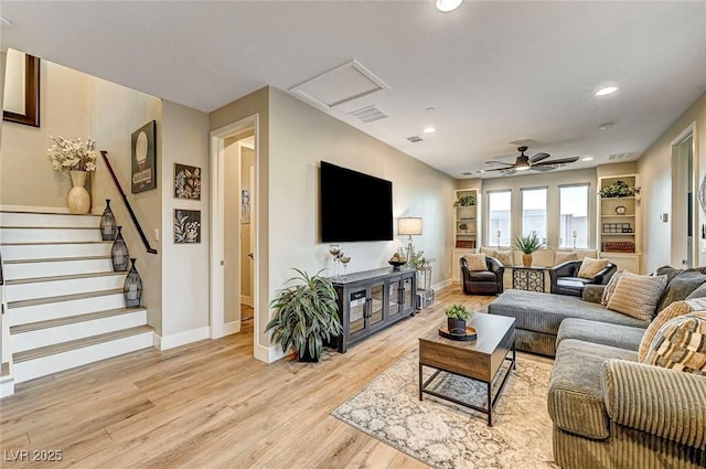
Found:
[[[36,281],[30,284],[6,285],[9,301],[55,297],[60,295],[85,294],[89,291],[122,288],[125,273],[106,277],[77,278],[57,281]]]

